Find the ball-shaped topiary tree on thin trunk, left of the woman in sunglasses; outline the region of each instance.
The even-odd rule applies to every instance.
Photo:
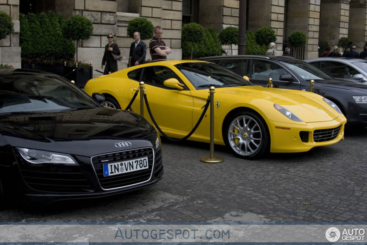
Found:
[[[93,24],[86,17],[73,15],[62,23],[63,35],[76,41],[76,60],[78,60],[78,42],[88,39],[93,33]]]

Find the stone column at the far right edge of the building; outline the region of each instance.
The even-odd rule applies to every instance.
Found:
[[[348,37],[357,46],[357,52],[361,52],[367,41],[367,2],[360,4],[359,0],[351,0],[349,6]]]

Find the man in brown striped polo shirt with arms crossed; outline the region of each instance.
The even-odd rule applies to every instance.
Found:
[[[156,26],[154,28],[154,37],[149,42],[150,56],[152,56],[153,61],[167,60],[167,54],[171,53],[170,47],[163,42],[162,38],[162,28]]]

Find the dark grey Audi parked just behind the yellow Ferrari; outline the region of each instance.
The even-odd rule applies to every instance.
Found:
[[[305,61],[286,56],[213,56],[199,60],[221,65],[247,76],[255,85],[266,86],[272,78],[274,88],[310,90],[333,101],[347,118],[348,127],[367,126],[367,85],[353,80],[333,78]]]

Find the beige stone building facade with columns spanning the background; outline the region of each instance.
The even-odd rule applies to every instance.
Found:
[[[227,26],[239,26],[239,0],[0,0],[0,11],[10,14],[15,24],[15,33],[0,40],[0,63],[21,65],[19,6],[28,1],[36,4],[35,13],[51,10],[65,18],[79,14],[90,19],[94,31],[88,40],[79,42],[78,57],[97,69],[110,32],[116,34],[115,42],[123,53],[119,69],[127,66],[133,42],[127,36],[127,25],[137,17],[162,26],[163,40],[172,49],[169,59],[181,59],[182,24],[190,18],[218,34]],[[263,26],[276,32],[280,52],[294,31],[307,36],[305,58],[318,56],[320,42],[334,46],[343,36],[352,39],[361,51],[367,41],[367,0],[247,0],[247,29],[256,31]],[[148,44],[149,40],[144,42]],[[230,54],[231,47],[223,48]],[[237,54],[235,45],[232,54]],[[150,58],[149,52],[146,58]]]

